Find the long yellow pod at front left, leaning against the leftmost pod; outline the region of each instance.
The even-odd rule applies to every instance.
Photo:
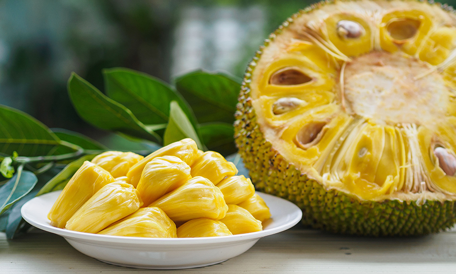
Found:
[[[68,220],[66,229],[97,233],[142,206],[139,192],[130,184],[107,184]]]

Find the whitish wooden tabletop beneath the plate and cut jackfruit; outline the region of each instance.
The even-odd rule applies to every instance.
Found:
[[[265,237],[246,253],[195,269],[145,270],[109,265],[62,237],[34,231],[13,241],[0,233],[0,273],[456,273],[456,230],[424,237],[333,235],[299,225]]]

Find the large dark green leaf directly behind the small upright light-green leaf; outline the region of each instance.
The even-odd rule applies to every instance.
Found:
[[[166,124],[171,101],[177,101],[192,124],[197,124],[192,110],[169,84],[150,75],[121,67],[104,70],[103,76],[106,94],[130,109],[143,124]]]

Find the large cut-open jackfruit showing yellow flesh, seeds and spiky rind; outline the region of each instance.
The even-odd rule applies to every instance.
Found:
[[[337,233],[456,223],[456,15],[438,3],[321,2],[249,64],[235,139],[259,191]]]

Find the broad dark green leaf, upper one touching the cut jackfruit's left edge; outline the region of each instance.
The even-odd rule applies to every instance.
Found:
[[[198,122],[234,122],[239,81],[222,73],[196,71],[178,77],[176,88],[192,107]]]

